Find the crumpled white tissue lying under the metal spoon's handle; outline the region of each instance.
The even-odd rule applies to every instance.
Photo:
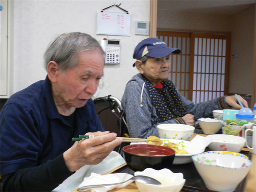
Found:
[[[112,184],[126,181],[132,178],[133,175],[128,173],[115,173],[115,174],[107,174],[107,175],[100,175],[96,173],[91,173],[90,177],[84,178],[84,181],[79,185],[79,187],[88,186],[88,185],[100,185],[100,184]],[[123,184],[119,185],[110,185],[110,186],[103,186],[103,187],[95,187],[91,188],[91,192],[107,192],[114,188],[122,188],[127,186],[133,182],[133,180],[129,180]]]

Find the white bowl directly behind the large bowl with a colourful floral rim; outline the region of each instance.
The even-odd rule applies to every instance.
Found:
[[[215,134],[208,135],[206,138],[213,139],[208,145],[212,151],[232,151],[239,153],[244,147],[245,138],[234,135]]]

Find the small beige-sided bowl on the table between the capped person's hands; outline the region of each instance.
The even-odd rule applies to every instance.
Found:
[[[201,129],[203,130],[204,134],[207,135],[216,134],[223,126],[223,120],[219,119],[199,118],[197,121]]]

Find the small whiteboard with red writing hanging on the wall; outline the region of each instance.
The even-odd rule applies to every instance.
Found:
[[[132,16],[118,12],[98,12],[96,34],[131,36]]]

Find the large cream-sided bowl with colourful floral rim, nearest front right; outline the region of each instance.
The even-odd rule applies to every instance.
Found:
[[[204,152],[192,160],[206,188],[220,192],[234,191],[252,166],[248,157],[233,152]]]

